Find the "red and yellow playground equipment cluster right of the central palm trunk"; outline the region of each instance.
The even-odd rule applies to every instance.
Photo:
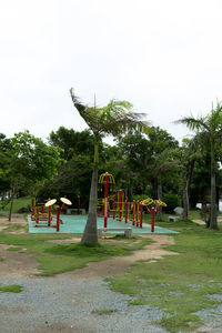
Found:
[[[144,200],[128,201],[128,196],[123,189],[119,189],[114,192],[114,195],[110,199],[109,183],[114,185],[113,175],[105,172],[100,175],[99,184],[104,184],[104,199],[98,200],[98,216],[104,216],[104,229],[108,226],[108,216],[112,212],[112,218],[115,221],[123,221],[124,223],[132,222],[133,226],[142,228],[143,222],[143,208],[145,206],[148,212],[151,212],[151,232],[154,232],[154,216],[161,206],[167,206],[161,200],[153,200],[151,198]],[[111,208],[112,201],[112,208]]]

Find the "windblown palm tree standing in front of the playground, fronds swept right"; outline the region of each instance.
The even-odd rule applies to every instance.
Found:
[[[98,140],[101,135],[117,137],[128,130],[148,130],[148,123],[141,119],[143,113],[132,111],[132,104],[128,101],[111,100],[107,107],[88,107],[79,101],[73,88],[70,94],[75,109],[84,119],[94,135],[94,162],[90,189],[89,214],[81,243],[98,243],[97,204],[98,204]]]

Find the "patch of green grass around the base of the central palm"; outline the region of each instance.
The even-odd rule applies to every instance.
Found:
[[[73,238],[73,234],[12,234],[9,231],[0,232],[0,243],[13,245],[9,251],[31,253],[39,263],[39,275],[53,275],[84,268],[89,262],[105,260],[113,255],[132,254],[143,249],[152,241],[144,238],[102,241],[97,245],[80,243],[54,244],[49,240]]]

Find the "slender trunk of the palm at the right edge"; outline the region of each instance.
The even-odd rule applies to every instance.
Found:
[[[219,229],[216,221],[216,200],[215,200],[215,151],[214,141],[211,140],[211,220],[210,229]]]

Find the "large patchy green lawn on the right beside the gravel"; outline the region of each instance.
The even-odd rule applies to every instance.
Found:
[[[158,225],[170,228],[169,222]],[[160,324],[169,332],[193,332],[200,326],[196,314],[216,309],[222,294],[222,231],[208,230],[191,221],[173,222],[180,234],[167,255],[153,263],[137,263],[124,275],[107,279],[111,290],[132,296],[129,304],[151,304],[164,311]]]

